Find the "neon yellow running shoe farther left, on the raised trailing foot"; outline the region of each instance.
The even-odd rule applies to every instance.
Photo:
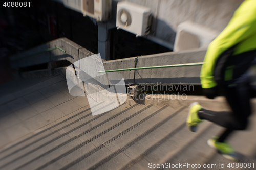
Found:
[[[194,102],[189,106],[189,112],[187,116],[187,127],[190,131],[196,132],[197,126],[203,120],[198,117],[198,111],[202,109],[202,106],[199,103]]]

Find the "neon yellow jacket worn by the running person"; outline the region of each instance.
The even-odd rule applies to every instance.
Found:
[[[234,45],[237,46],[232,55],[256,49],[256,0],[244,1],[227,27],[210,43],[201,69],[202,88],[217,85],[214,80],[215,63],[223,52]]]

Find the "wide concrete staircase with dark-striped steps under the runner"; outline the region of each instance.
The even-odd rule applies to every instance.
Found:
[[[67,88],[64,84],[62,90]],[[2,148],[0,169],[158,169],[150,168],[149,163],[216,164],[218,168],[220,162],[228,161],[206,141],[222,128],[205,121],[197,133],[190,132],[185,120],[188,104],[194,101],[200,102],[192,97],[164,105],[127,101],[114,110],[92,116],[88,101],[84,100],[79,112]],[[210,100],[202,103],[218,106]],[[231,138],[231,143],[247,155],[244,162],[255,162],[255,122],[254,116],[250,131]]]

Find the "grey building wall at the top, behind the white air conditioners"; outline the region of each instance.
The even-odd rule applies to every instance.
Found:
[[[122,1],[122,0],[118,0]],[[243,0],[128,0],[152,9],[154,35],[174,44],[178,25],[193,21],[222,31]]]

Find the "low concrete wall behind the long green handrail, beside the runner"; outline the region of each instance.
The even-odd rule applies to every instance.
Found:
[[[205,53],[206,50],[190,50],[141,56],[138,57],[136,67],[203,62]],[[105,70],[134,68],[135,58],[136,57],[104,61],[103,65]],[[135,83],[200,84],[200,71],[200,65],[137,70],[135,74]],[[126,85],[134,82],[134,70],[120,71],[119,73],[123,75]],[[109,77],[111,78],[111,73],[109,73]],[[114,78],[111,79],[113,80]]]

